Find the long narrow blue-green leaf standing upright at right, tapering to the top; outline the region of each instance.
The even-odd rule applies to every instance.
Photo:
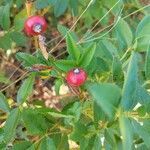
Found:
[[[138,88],[138,66],[137,53],[133,52],[128,66],[127,75],[122,91],[121,105],[125,110],[132,109],[136,104]]]

